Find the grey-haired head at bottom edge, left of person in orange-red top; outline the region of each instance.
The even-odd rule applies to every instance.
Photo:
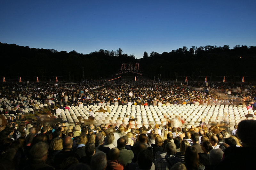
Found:
[[[95,153],[91,159],[91,166],[94,170],[104,170],[107,167],[107,157],[104,152]]]

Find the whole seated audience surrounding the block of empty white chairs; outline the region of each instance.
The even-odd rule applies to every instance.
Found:
[[[247,87],[243,94],[252,109],[254,94],[254,86]],[[1,169],[254,169],[251,155],[255,152],[255,120],[241,121],[231,134],[204,122],[189,129],[171,122],[134,129],[129,124],[71,125],[54,114],[54,121],[48,123],[24,121],[25,108],[47,107],[50,113],[56,113],[57,108],[95,104],[235,104],[206,91],[191,90],[184,84],[124,82],[97,88],[74,83],[28,87],[7,84],[2,85],[0,103],[1,114],[10,115],[7,122],[1,119]],[[42,108],[39,103],[46,106]],[[240,107],[244,107],[242,103]],[[16,120],[18,116],[20,119]]]

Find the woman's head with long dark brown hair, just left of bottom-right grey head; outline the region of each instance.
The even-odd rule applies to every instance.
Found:
[[[198,169],[200,164],[196,147],[188,146],[185,154],[185,165],[191,169]]]

